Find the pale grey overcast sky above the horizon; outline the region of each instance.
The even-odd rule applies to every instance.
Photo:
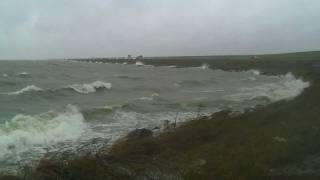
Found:
[[[0,59],[320,50],[320,0],[0,0]]]

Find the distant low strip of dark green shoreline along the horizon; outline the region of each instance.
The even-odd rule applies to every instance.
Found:
[[[143,59],[72,59],[79,62],[93,63],[113,63],[113,64],[135,64],[137,61],[144,65],[152,66],[174,66],[200,67],[204,64],[211,69],[222,69],[230,71],[241,71],[258,69],[266,74],[285,74],[293,72],[300,76],[306,69],[310,70],[319,66],[320,51],[286,53],[272,55],[253,55],[253,56],[176,56],[176,57],[155,57]]]

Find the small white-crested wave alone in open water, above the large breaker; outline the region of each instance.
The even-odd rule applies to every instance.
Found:
[[[106,83],[102,81],[95,81],[89,84],[74,84],[69,86],[69,88],[81,94],[94,93],[97,89],[111,89],[111,83]]]

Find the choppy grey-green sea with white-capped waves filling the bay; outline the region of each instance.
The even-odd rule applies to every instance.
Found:
[[[95,151],[136,128],[292,99],[291,73],[75,61],[0,61],[0,172],[46,153]]]

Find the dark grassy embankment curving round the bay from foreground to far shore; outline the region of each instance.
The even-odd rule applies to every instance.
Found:
[[[192,59],[192,58],[191,58]],[[43,161],[31,179],[319,179],[320,52],[146,60],[146,64],[224,70],[293,72],[311,87],[280,101],[230,117],[220,112],[158,137],[115,144],[108,153],[62,163]],[[197,58],[196,58],[197,59]],[[319,61],[317,61],[319,60]]]

